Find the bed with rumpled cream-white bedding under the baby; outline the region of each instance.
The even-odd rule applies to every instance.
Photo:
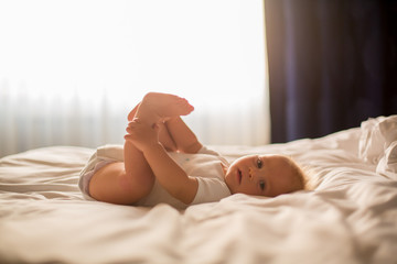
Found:
[[[92,148],[0,160],[0,263],[397,263],[397,116],[320,139],[216,146],[291,155],[313,190],[176,210],[85,200]]]

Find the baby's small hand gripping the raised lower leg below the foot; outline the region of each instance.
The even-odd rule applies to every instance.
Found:
[[[133,119],[128,123],[126,129],[128,134],[125,135],[125,140],[132,142],[138,150],[144,152],[148,147],[159,144],[158,129],[157,124],[150,125],[139,119]]]

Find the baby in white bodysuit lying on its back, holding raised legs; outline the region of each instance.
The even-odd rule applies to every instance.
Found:
[[[87,198],[176,208],[242,193],[276,197],[304,188],[300,167],[283,155],[248,155],[229,164],[203,146],[180,116],[194,108],[174,95],[150,92],[128,114],[124,147],[103,146],[81,173]]]

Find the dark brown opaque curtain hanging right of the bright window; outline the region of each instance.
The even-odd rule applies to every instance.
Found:
[[[265,0],[271,141],[397,113],[397,1]]]

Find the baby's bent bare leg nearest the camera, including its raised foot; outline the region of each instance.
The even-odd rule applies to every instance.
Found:
[[[131,111],[128,120],[139,118],[154,124],[169,117],[184,116],[191,111],[193,107],[185,99],[150,92]],[[170,136],[168,140],[172,142]],[[172,145],[174,147],[173,142]],[[111,163],[95,173],[89,183],[89,194],[95,199],[128,205],[149,195],[154,184],[154,175],[143,154],[131,142],[126,141],[124,160],[124,163]]]

